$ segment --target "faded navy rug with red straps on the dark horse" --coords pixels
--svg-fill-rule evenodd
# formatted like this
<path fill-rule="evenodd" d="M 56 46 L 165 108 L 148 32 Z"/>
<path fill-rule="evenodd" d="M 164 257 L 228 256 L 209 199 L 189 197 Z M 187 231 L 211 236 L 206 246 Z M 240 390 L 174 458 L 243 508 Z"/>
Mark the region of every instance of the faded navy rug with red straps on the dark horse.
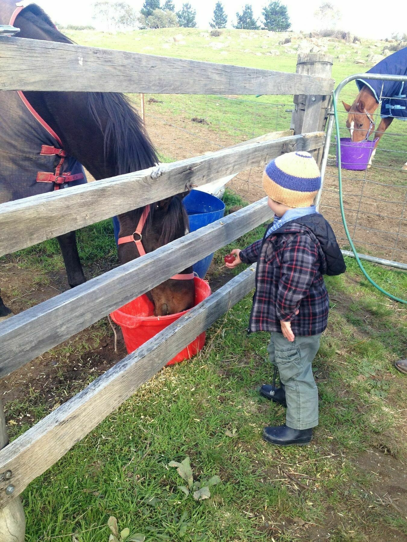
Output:
<path fill-rule="evenodd" d="M 3 0 L 0 24 L 14 24 L 23 10 L 46 17 L 35 4 Z M 18 34 L 17 34 L 18 36 Z M 84 169 L 21 91 L 0 93 L 0 203 L 86 183 Z"/>

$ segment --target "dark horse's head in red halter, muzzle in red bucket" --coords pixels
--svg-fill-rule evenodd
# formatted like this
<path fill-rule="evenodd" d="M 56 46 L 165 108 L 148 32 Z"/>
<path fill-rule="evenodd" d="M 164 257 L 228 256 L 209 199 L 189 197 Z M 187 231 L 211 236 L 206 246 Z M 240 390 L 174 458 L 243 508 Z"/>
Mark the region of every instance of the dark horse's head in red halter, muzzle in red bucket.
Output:
<path fill-rule="evenodd" d="M 187 193 L 187 192 L 186 192 Z M 186 193 L 163 199 L 150 205 L 147 221 L 142 229 L 142 245 L 146 253 L 162 247 L 174 239 L 189 232 L 188 215 L 182 205 Z M 132 236 L 139 224 L 143 209 L 126 212 L 119 215 L 119 237 Z M 135 237 L 138 240 L 137 234 Z M 139 257 L 139 251 L 134 242 L 125 242 L 118 246 L 118 256 L 121 264 Z M 192 273 L 192 267 L 185 269 Z M 163 316 L 185 311 L 193 307 L 195 298 L 193 280 L 168 279 L 152 288 L 147 295 L 154 303 L 154 314 Z"/>

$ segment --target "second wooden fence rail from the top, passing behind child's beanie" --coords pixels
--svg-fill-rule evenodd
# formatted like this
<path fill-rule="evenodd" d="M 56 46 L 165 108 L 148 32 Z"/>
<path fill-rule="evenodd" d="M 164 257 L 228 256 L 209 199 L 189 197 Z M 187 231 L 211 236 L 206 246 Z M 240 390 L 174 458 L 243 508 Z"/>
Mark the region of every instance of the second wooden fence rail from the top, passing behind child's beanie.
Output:
<path fill-rule="evenodd" d="M 323 132 L 314 132 L 249 142 L 147 170 L 96 180 L 69 190 L 3 203 L 0 205 L 0 256 L 143 207 L 191 186 L 200 186 L 262 165 L 279 156 L 287 146 L 290 150 L 308 151 L 319 149 L 324 141 Z"/>

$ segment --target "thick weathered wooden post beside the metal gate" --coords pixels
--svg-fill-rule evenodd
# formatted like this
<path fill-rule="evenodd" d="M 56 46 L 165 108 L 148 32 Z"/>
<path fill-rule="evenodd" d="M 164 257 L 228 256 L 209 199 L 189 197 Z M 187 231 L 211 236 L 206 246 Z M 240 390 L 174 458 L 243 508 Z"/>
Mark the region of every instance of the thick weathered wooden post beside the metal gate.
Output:
<path fill-rule="evenodd" d="M 296 73 L 331 79 L 332 64 L 332 55 L 300 53 L 297 57 Z M 295 110 L 291 116 L 291 128 L 294 128 L 294 135 L 324 130 L 330 104 L 329 94 L 326 96 L 297 94 L 294 96 L 294 104 Z M 314 151 L 314 157 L 319 165 L 322 160 L 322 151 L 323 149 Z"/>

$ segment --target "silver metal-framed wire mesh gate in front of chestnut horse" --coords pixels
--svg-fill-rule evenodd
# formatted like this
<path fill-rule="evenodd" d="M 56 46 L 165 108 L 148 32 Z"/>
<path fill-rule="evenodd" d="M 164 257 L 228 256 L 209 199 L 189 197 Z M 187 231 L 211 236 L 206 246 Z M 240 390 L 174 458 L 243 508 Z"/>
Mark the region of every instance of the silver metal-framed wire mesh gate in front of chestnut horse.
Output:
<path fill-rule="evenodd" d="M 355 74 L 344 79 L 336 88 L 335 97 L 338 104 L 342 91 L 344 91 L 342 95 L 346 95 L 347 92 L 353 93 L 354 99 L 356 95 L 354 89 L 347 88 L 346 85 L 356 79 L 400 81 L 406 82 L 407 87 L 406 76 Z M 378 118 L 378 122 L 375 122 L 376 127 L 380 122 L 381 102 L 388 98 L 383 95 L 383 87 L 382 84 L 377 111 L 372 114 L 375 121 Z M 398 100 L 400 99 L 404 100 L 407 106 L 405 95 L 398 97 Z M 349 136 L 345 124 L 346 117 L 347 112 L 340 107 L 338 118 L 341 137 Z M 345 246 L 347 238 L 339 211 L 336 140 L 332 137 L 334 122 L 332 105 L 321 163 L 322 186 L 316 198 L 316 205 L 332 224 L 342 246 Z M 407 122 L 396 118 L 389 131 L 383 133 L 371 167 L 364 171 L 342 169 L 346 220 L 360 259 L 405 270 L 407 270 L 407 170 L 403 170 L 402 167 L 406 162 Z M 344 253 L 353 256 L 352 251 L 344 250 Z"/>

